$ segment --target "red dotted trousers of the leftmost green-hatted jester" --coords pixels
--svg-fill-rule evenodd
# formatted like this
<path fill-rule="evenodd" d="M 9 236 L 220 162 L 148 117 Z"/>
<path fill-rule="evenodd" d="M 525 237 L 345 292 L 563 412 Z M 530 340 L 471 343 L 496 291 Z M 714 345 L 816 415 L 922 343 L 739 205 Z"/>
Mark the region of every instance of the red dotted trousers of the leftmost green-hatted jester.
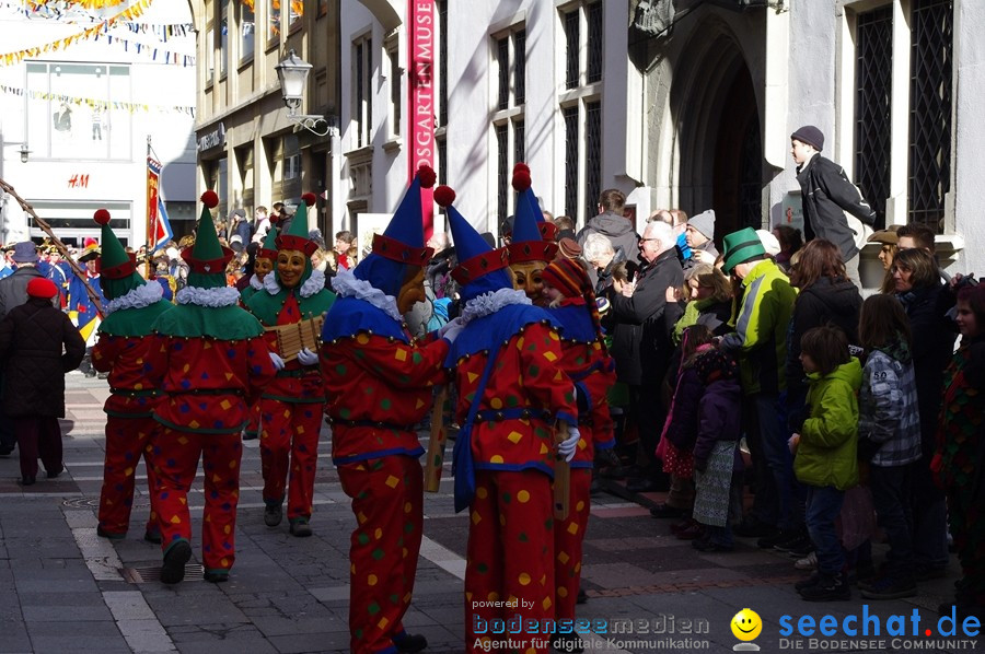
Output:
<path fill-rule="evenodd" d="M 100 527 L 112 536 L 123 536 L 130 526 L 134 489 L 140 457 L 147 468 L 147 486 L 151 493 L 151 511 L 147 530 L 157 533 L 154 511 L 154 470 L 151 442 L 160 423 L 151 416 L 123 418 L 106 416 L 106 460 L 103 464 L 103 490 L 100 492 Z"/>

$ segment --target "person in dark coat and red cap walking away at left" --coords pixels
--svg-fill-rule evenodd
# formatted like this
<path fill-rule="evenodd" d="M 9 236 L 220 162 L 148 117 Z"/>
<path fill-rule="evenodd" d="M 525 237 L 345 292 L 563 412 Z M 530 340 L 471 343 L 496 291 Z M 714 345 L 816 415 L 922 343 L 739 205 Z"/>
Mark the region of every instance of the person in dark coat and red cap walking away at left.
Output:
<path fill-rule="evenodd" d="M 65 417 L 65 373 L 79 367 L 85 341 L 68 316 L 51 305 L 57 294 L 51 280 L 33 279 L 27 302 L 0 323 L 0 365 L 7 379 L 18 381 L 4 384 L 0 401 L 20 444 L 22 486 L 34 483 L 38 455 L 48 478 L 65 469 L 58 425 Z"/>

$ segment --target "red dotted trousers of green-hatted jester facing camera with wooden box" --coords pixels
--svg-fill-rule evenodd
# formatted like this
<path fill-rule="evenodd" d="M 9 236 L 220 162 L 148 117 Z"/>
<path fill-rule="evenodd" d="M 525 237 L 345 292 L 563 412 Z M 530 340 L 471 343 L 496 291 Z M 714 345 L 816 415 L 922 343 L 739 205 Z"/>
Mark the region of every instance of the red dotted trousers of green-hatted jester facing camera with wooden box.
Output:
<path fill-rule="evenodd" d="M 260 468 L 264 502 L 283 502 L 288 494 L 289 521 L 311 518 L 318 430 L 324 404 L 293 404 L 260 399 Z M 288 488 L 288 471 L 290 487 Z"/>

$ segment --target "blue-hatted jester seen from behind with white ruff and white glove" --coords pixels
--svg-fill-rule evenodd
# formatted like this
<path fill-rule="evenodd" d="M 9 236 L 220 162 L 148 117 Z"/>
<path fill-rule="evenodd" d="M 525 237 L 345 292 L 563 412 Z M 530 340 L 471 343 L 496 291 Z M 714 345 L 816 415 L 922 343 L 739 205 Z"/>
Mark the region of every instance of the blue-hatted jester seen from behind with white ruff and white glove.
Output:
<path fill-rule="evenodd" d="M 465 568 L 465 645 L 494 643 L 476 626 L 491 620 L 554 617 L 555 449 L 570 460 L 580 440 L 575 388 L 559 366 L 559 327 L 510 283 L 507 253 L 493 249 L 439 187 L 462 284 L 465 328 L 447 365 L 455 371 L 455 511 L 470 509 Z M 496 374 L 493 375 L 493 370 Z M 563 443 L 555 447 L 558 425 Z M 501 599 L 509 606 L 498 606 Z M 546 652 L 531 634 L 511 635 L 521 652 Z M 543 639 L 546 644 L 547 639 Z"/>

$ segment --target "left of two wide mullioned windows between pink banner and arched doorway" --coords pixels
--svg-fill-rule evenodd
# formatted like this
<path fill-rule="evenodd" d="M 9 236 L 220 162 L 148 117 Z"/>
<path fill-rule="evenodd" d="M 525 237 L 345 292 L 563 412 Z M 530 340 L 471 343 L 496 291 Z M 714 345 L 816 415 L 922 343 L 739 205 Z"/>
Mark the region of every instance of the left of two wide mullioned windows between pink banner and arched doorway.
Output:
<path fill-rule="evenodd" d="M 522 161 L 526 143 L 526 28 L 523 23 L 493 34 L 496 89 L 493 103 L 493 136 L 496 148 L 496 207 L 499 224 L 512 213 L 510 186 L 514 163 Z"/>

